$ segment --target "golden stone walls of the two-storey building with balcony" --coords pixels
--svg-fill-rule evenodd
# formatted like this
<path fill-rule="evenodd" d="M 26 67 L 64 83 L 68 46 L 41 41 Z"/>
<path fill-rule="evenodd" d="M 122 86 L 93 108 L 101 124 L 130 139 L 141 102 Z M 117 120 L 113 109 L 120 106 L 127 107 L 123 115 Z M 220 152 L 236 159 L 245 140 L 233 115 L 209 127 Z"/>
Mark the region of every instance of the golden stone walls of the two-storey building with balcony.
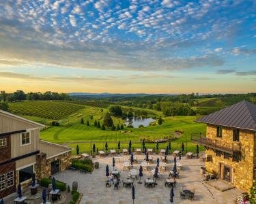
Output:
<path fill-rule="evenodd" d="M 216 126 L 208 125 L 207 137 L 216 139 L 223 146 L 230 146 L 233 142 L 233 129 L 223 127 L 222 137 L 216 137 Z M 235 162 L 232 158 L 224 158 L 224 154 L 216 156 L 214 150 L 206 150 L 206 155 L 212 155 L 212 161 L 205 162 L 206 171 L 219 174 L 219 164 L 223 163 L 233 169 L 231 177 L 233 184 L 242 190 L 249 190 L 253 184 L 253 168 L 255 153 L 255 133 L 240 130 L 241 157 L 239 162 Z M 233 176 L 232 176 L 233 173 Z"/>

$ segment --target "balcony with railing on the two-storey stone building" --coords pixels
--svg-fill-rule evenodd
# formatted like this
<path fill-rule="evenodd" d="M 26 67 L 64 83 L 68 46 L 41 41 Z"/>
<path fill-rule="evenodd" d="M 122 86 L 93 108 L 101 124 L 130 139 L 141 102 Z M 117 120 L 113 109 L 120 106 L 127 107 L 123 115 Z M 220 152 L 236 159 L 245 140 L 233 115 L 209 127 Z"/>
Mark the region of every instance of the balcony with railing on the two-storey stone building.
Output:
<path fill-rule="evenodd" d="M 213 150 L 227 152 L 229 154 L 240 154 L 241 152 L 240 141 L 227 143 L 221 139 L 210 139 L 208 137 L 204 137 L 203 135 L 192 135 L 191 141 L 201 146 L 205 146 L 205 148 L 212 148 Z"/>

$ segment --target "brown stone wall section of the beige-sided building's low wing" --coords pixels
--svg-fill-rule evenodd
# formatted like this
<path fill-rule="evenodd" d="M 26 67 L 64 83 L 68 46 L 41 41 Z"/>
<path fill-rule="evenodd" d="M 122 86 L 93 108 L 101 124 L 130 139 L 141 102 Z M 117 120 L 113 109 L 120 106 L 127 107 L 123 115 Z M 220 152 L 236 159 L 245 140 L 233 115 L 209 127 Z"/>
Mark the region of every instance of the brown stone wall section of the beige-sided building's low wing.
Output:
<path fill-rule="evenodd" d="M 46 154 L 40 153 L 36 158 L 35 172 L 38 180 L 51 175 L 51 163 L 55 160 L 60 162 L 60 171 L 65 171 L 71 165 L 71 152 L 46 159 Z"/>

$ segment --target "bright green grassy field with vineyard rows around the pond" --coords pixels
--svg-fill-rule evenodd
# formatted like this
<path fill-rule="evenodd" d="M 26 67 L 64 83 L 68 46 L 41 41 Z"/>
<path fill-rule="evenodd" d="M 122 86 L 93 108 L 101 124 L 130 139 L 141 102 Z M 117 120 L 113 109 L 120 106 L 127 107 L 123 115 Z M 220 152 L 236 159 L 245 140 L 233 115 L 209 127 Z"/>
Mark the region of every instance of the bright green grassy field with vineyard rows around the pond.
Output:
<path fill-rule="evenodd" d="M 43 109 L 40 109 L 44 106 Z M 29 109 L 29 107 L 32 107 Z M 47 108 L 46 108 L 47 107 Z M 10 104 L 10 109 L 14 113 L 18 113 L 21 116 L 36 122 L 49 125 L 52 121 L 51 118 L 55 114 L 54 118 L 61 118 L 57 120 L 59 126 L 49 126 L 40 133 L 40 138 L 52 141 L 55 143 L 62 143 L 73 148 L 79 144 L 81 152 L 90 152 L 93 143 L 96 143 L 96 148 L 99 150 L 104 149 L 106 141 L 109 142 L 109 148 L 117 149 L 117 142 L 121 141 L 121 148 L 128 148 L 128 141 L 132 141 L 132 148 L 141 148 L 141 138 L 150 137 L 153 139 L 160 139 L 163 137 L 173 137 L 174 131 L 184 131 L 184 133 L 171 140 L 172 150 L 180 149 L 181 143 L 184 142 L 190 152 L 195 152 L 195 144 L 190 142 L 191 134 L 193 133 L 205 133 L 205 124 L 195 123 L 193 120 L 197 116 L 175 116 L 164 117 L 162 112 L 157 112 L 151 109 L 141 109 L 145 112 L 152 112 L 152 115 L 158 117 L 162 116 L 164 122 L 162 125 L 147 126 L 139 129 L 127 128 L 125 126 L 124 131 L 102 131 L 94 126 L 94 121 L 99 121 L 102 124 L 102 120 L 108 108 L 92 107 L 88 105 L 78 105 L 69 102 L 57 102 L 57 101 L 29 101 Z M 27 112 L 23 112 L 26 109 Z M 63 110 L 68 110 L 63 112 Z M 139 109 L 139 108 L 136 108 Z M 40 114 L 35 114 L 35 110 Z M 71 114 L 68 114 L 71 112 Z M 50 114 L 50 116 L 47 116 Z M 35 116 L 36 115 L 36 116 Z M 40 117 L 41 116 L 41 117 Z M 92 119 L 91 119 L 92 116 Z M 81 124 L 81 118 L 84 119 L 85 124 Z M 124 121 L 121 118 L 113 118 L 115 126 L 117 124 L 123 124 Z M 89 121 L 89 126 L 86 122 Z M 92 141 L 92 142 L 91 142 Z M 147 148 L 155 148 L 155 143 L 146 143 Z M 160 148 L 166 148 L 167 143 L 160 143 Z M 202 148 L 203 149 L 203 148 Z M 73 151 L 75 154 L 75 150 Z"/>

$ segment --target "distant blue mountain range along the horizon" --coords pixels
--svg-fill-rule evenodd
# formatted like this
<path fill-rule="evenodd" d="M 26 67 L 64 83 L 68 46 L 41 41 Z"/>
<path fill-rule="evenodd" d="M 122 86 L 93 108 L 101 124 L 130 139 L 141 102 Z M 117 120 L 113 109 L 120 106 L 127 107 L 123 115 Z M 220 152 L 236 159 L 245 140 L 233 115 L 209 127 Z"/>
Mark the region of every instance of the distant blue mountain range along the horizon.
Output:
<path fill-rule="evenodd" d="M 168 94 L 145 94 L 145 93 L 128 93 L 128 94 L 122 94 L 122 93 L 109 93 L 109 92 L 102 92 L 102 93 L 91 93 L 91 92 L 70 92 L 68 93 L 70 97 L 145 97 L 145 96 L 173 96 Z"/>

